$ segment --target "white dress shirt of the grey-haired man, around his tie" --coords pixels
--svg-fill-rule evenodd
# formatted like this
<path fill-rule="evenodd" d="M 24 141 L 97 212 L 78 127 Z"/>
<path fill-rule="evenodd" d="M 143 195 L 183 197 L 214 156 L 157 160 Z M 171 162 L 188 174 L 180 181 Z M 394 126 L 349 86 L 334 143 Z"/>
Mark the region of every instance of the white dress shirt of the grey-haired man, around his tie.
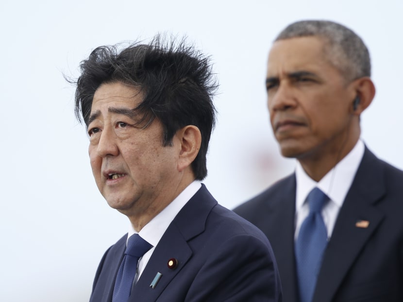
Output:
<path fill-rule="evenodd" d="M 309 192 L 318 187 L 330 199 L 322 208 L 322 217 L 327 229 L 328 240 L 332 236 L 335 227 L 338 212 L 343 205 L 347 192 L 349 191 L 358 166 L 364 156 L 364 143 L 361 140 L 355 144 L 354 148 L 348 153 L 333 169 L 331 169 L 317 183 L 311 179 L 301 164 L 297 161 L 295 176 L 297 180 L 297 191 L 295 200 L 295 233 L 294 239 L 298 238 L 301 224 L 309 214 L 309 205 L 305 202 Z"/>

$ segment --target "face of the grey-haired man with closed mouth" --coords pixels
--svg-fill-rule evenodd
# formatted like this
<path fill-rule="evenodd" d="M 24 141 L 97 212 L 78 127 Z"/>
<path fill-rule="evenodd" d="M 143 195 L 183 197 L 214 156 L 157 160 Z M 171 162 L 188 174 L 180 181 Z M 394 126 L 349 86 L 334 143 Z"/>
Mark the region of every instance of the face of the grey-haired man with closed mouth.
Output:
<path fill-rule="evenodd" d="M 356 92 L 330 64 L 318 37 L 276 41 L 266 87 L 273 133 L 285 157 L 337 153 L 352 138 Z"/>

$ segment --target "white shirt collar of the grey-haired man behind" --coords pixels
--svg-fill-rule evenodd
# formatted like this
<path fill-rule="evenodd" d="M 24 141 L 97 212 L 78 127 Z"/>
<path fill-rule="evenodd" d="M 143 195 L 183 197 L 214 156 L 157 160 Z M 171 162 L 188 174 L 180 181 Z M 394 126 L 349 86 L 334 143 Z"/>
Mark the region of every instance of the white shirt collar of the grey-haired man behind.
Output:
<path fill-rule="evenodd" d="M 347 192 L 353 184 L 353 179 L 364 156 L 365 146 L 359 139 L 350 151 L 337 165 L 331 169 L 318 183 L 311 179 L 297 161 L 295 176 L 297 180 L 296 211 L 302 207 L 309 192 L 319 187 L 331 201 L 341 207 Z"/>

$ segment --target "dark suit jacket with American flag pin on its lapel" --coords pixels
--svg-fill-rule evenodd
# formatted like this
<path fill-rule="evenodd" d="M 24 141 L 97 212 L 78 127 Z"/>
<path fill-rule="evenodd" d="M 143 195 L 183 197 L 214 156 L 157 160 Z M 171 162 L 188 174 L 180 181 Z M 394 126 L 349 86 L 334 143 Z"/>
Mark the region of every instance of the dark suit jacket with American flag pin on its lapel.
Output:
<path fill-rule="evenodd" d="M 235 209 L 268 236 L 285 302 L 298 301 L 295 192 L 292 174 Z M 313 302 L 329 301 L 403 301 L 403 172 L 367 148 L 323 255 Z"/>

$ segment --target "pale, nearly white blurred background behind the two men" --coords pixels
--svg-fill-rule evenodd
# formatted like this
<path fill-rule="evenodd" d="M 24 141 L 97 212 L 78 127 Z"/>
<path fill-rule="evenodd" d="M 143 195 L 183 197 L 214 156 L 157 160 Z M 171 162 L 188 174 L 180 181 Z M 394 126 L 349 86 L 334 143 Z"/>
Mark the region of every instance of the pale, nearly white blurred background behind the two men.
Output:
<path fill-rule="evenodd" d="M 291 22 L 331 19 L 369 47 L 375 100 L 362 138 L 403 168 L 401 0 L 0 2 L 0 301 L 88 301 L 103 252 L 128 220 L 93 180 L 74 87 L 91 50 L 157 32 L 184 35 L 212 56 L 218 124 L 205 184 L 233 208 L 292 171 L 279 155 L 266 110 L 267 53 Z"/>

